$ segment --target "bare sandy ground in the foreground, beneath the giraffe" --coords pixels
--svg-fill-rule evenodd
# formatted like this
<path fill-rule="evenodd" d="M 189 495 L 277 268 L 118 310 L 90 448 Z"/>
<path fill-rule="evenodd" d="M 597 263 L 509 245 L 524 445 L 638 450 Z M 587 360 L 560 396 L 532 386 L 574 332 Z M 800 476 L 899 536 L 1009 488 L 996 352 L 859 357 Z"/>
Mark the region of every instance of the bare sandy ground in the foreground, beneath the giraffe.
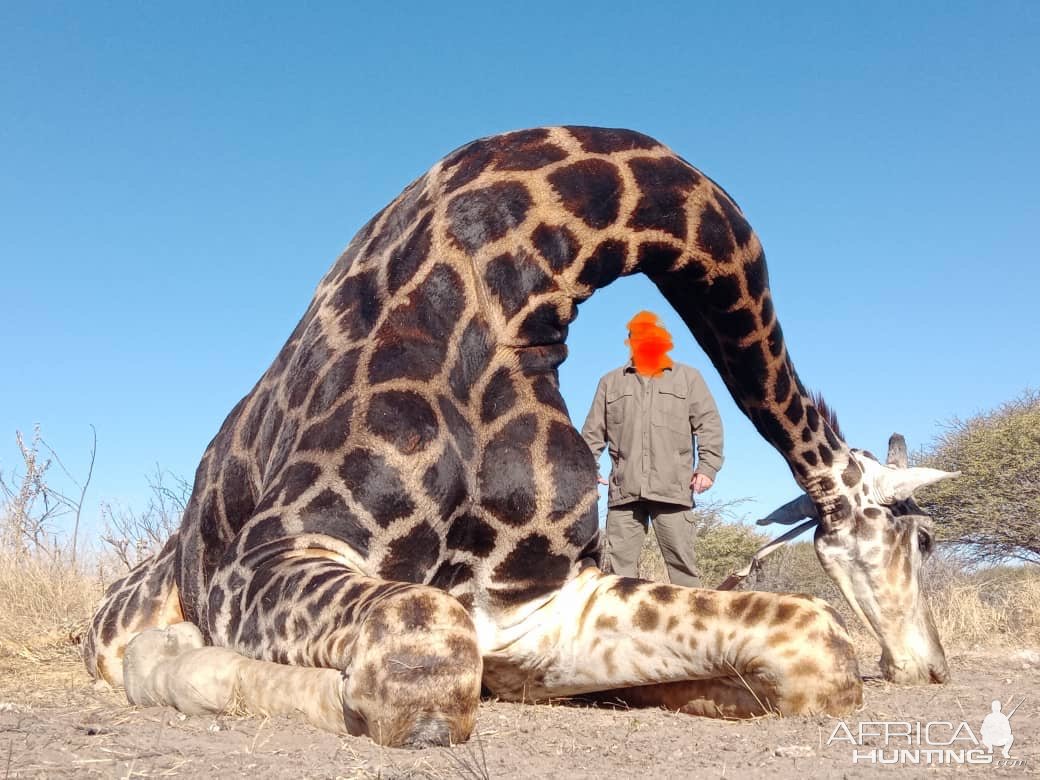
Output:
<path fill-rule="evenodd" d="M 96 690 L 69 653 L 0 658 L 0 776 L 347 778 L 859 778 L 888 774 L 1040 775 L 1040 662 L 1030 651 L 951 653 L 946 685 L 867 680 L 861 711 L 844 719 L 980 724 L 990 702 L 1018 702 L 1013 766 L 893 768 L 853 763 L 848 742 L 827 745 L 832 718 L 719 722 L 659 709 L 488 701 L 476 732 L 452 749 L 405 751 L 337 737 L 284 719 L 185 718 L 126 706 Z M 876 673 L 864 662 L 867 673 Z M 948 734 L 950 731 L 943 732 Z M 878 738 L 870 745 L 881 746 Z M 999 753 L 999 749 L 997 749 Z"/>

